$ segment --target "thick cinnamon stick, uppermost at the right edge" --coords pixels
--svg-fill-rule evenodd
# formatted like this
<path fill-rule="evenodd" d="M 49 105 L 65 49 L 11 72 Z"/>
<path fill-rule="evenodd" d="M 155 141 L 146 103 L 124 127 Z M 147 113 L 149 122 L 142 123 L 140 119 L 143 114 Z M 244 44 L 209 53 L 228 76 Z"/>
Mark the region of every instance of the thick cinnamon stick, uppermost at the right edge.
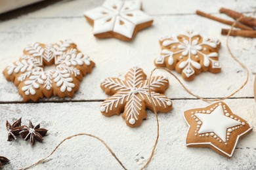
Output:
<path fill-rule="evenodd" d="M 240 12 L 236 12 L 234 10 L 224 9 L 224 8 L 221 8 L 219 12 L 224 13 L 227 16 L 230 16 L 231 18 L 234 18 L 234 20 L 237 20 L 238 18 L 243 17 L 239 22 L 251 27 L 256 27 L 256 18 L 245 16 Z"/>

